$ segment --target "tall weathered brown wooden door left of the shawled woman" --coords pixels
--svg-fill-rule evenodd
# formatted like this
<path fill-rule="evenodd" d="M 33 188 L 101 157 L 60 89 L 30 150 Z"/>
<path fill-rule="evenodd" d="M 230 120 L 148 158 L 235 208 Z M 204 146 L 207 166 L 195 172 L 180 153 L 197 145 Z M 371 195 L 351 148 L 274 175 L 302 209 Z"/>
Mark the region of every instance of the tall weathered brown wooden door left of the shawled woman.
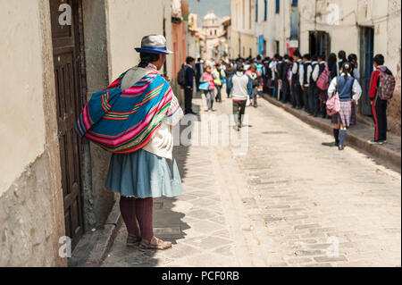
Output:
<path fill-rule="evenodd" d="M 67 6 L 66 6 L 67 4 Z M 84 232 L 80 140 L 74 133 L 81 107 L 80 2 L 50 0 L 66 235 L 74 248 Z M 60 16 L 62 15 L 62 18 Z M 70 18 L 71 17 L 71 21 Z"/>

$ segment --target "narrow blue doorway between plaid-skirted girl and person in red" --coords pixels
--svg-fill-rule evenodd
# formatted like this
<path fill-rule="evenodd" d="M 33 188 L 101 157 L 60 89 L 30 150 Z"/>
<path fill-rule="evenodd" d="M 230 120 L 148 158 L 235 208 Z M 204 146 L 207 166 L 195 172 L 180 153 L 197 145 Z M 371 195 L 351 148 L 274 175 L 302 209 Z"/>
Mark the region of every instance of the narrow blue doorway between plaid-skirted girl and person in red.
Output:
<path fill-rule="evenodd" d="M 361 113 L 372 115 L 372 106 L 368 95 L 370 77 L 373 72 L 374 57 L 374 29 L 372 27 L 360 27 L 360 85 L 362 86 Z"/>

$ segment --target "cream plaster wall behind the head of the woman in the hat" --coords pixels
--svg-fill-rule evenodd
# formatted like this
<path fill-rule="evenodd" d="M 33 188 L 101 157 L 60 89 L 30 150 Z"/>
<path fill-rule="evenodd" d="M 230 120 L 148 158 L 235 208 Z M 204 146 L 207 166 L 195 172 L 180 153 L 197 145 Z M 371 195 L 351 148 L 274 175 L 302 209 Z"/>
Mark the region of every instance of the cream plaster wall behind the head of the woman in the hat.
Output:
<path fill-rule="evenodd" d="M 149 34 L 163 34 L 166 19 L 168 49 L 172 46 L 172 15 L 169 0 L 106 0 L 109 76 L 115 80 L 139 63 L 134 47 Z M 167 56 L 168 74 L 172 78 L 172 55 Z"/>

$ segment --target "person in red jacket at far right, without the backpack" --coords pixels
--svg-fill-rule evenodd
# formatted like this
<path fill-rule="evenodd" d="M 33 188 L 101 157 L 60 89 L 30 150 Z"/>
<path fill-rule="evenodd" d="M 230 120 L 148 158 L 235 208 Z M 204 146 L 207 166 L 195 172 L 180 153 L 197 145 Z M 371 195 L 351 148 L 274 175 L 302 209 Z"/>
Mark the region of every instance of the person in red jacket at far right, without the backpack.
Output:
<path fill-rule="evenodd" d="M 369 143 L 373 145 L 382 145 L 387 142 L 388 100 L 382 100 L 379 96 L 377 96 L 381 72 L 392 74 L 392 72 L 389 71 L 386 66 L 384 66 L 384 62 L 384 56 L 382 54 L 377 54 L 374 56 L 375 71 L 373 71 L 372 73 L 369 89 L 369 97 L 372 104 L 373 121 L 375 125 L 374 139 L 370 140 Z"/>

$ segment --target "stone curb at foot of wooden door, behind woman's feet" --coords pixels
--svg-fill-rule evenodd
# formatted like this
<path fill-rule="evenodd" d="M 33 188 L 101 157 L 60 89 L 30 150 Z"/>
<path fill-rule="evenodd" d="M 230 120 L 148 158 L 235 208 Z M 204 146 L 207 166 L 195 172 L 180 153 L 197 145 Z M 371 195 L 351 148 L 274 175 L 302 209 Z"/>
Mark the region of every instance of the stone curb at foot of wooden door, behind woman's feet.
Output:
<path fill-rule="evenodd" d="M 107 217 L 104 228 L 97 232 L 98 238 L 96 239 L 96 246 L 91 250 L 88 260 L 82 267 L 100 267 L 105 260 L 107 252 L 113 245 L 121 222 L 119 200 L 116 200 L 112 211 Z"/>

